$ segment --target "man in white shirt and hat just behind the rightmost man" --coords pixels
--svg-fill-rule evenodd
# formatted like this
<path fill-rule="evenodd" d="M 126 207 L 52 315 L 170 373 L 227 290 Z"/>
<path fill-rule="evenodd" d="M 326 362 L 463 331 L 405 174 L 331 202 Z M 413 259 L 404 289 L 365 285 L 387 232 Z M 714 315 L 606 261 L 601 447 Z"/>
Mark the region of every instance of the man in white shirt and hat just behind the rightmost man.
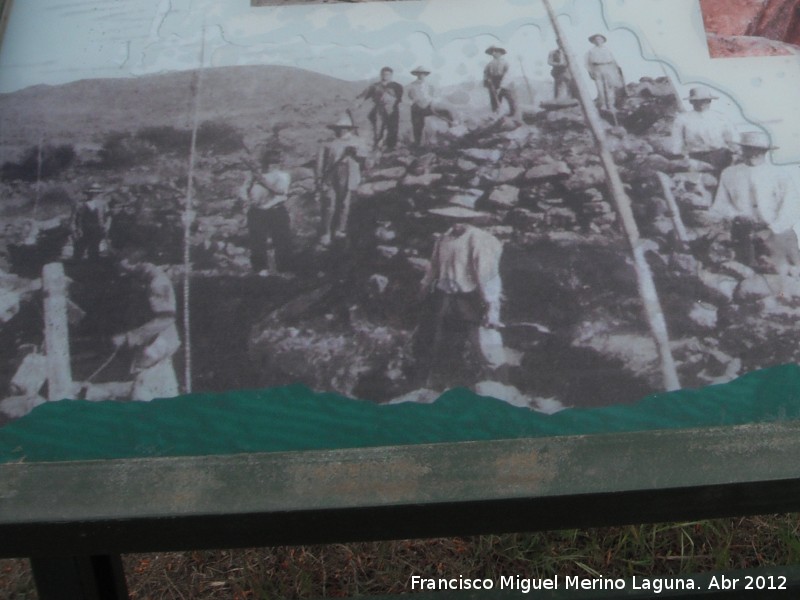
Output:
<path fill-rule="evenodd" d="M 733 162 L 738 140 L 733 124 L 724 115 L 711 110 L 711 103 L 718 99 L 705 87 L 689 90 L 686 100 L 692 110 L 675 117 L 670 142 L 673 154 L 712 165 L 716 177 Z"/>

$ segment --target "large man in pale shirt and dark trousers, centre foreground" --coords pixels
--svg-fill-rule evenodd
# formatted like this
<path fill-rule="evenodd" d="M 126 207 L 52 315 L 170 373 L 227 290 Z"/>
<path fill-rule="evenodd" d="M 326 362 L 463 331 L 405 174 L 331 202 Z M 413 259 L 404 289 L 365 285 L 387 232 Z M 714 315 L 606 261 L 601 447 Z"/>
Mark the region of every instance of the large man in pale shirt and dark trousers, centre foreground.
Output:
<path fill-rule="evenodd" d="M 421 282 L 424 315 L 415 338 L 415 355 L 427 387 L 474 383 L 482 376 L 504 378 L 500 321 L 502 243 L 472 225 L 457 223 L 437 240 Z M 465 350 L 479 362 L 465 361 Z M 453 381 L 466 369 L 472 382 Z M 477 377 L 477 379 L 475 379 Z"/>

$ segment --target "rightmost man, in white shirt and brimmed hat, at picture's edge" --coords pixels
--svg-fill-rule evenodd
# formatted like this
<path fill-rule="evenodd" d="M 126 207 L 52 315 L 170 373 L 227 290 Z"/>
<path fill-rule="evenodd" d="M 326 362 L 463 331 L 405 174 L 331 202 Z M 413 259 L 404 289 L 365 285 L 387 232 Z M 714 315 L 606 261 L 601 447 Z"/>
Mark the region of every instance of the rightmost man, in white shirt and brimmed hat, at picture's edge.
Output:
<path fill-rule="evenodd" d="M 722 172 L 709 216 L 731 221 L 736 260 L 754 268 L 767 261 L 785 273 L 800 266 L 800 193 L 786 169 L 769 162 L 766 133 L 743 133 L 739 145 L 743 162 Z"/>

